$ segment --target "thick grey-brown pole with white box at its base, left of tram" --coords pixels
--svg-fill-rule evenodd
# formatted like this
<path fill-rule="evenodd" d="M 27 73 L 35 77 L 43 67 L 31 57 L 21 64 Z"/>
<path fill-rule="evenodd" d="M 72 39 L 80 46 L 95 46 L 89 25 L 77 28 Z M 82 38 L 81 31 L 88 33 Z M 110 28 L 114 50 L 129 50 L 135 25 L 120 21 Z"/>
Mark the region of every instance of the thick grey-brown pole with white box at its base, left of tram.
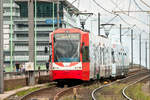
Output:
<path fill-rule="evenodd" d="M 29 62 L 34 63 L 34 6 L 33 0 L 28 0 L 28 26 L 29 26 Z M 34 64 L 33 64 L 34 65 Z M 34 66 L 35 70 L 35 66 Z M 35 84 L 34 71 L 29 71 L 29 85 Z"/>

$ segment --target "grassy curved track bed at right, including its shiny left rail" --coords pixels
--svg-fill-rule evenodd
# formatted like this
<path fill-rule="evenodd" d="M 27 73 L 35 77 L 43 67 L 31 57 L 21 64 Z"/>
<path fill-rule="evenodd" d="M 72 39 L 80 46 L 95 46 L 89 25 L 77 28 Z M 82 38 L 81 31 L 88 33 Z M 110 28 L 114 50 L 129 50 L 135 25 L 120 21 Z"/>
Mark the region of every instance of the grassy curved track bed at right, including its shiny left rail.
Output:
<path fill-rule="evenodd" d="M 128 76 L 124 79 L 114 81 L 107 85 L 102 85 L 94 89 L 91 93 L 93 100 L 127 100 L 122 95 L 121 90 L 126 86 L 135 83 L 139 79 L 143 79 L 148 75 L 147 71 L 139 72 L 135 75 Z M 148 77 L 148 76 L 147 76 Z M 111 99 L 110 99 L 111 98 Z M 128 99 L 130 100 L 130 99 Z"/>

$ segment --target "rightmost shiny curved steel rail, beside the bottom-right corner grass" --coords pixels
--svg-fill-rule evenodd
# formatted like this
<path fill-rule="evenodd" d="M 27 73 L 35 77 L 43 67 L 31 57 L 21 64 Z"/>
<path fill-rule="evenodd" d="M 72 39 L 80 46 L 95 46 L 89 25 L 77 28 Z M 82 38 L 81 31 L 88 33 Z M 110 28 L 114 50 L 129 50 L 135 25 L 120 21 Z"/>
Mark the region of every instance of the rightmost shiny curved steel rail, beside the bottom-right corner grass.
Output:
<path fill-rule="evenodd" d="M 134 84 L 136 84 L 136 83 L 138 83 L 138 82 L 140 82 L 140 81 L 142 81 L 142 80 L 144 80 L 144 79 L 146 79 L 146 78 L 148 78 L 148 77 L 150 77 L 150 75 L 147 75 L 147 76 L 143 77 L 142 79 L 137 80 L 136 82 L 131 83 L 131 84 L 129 84 L 128 86 L 126 86 L 125 88 L 123 88 L 123 90 L 122 90 L 122 95 L 123 95 L 126 99 L 128 99 L 128 100 L 133 100 L 131 97 L 127 96 L 127 94 L 125 93 L 125 90 L 126 90 L 129 86 L 134 85 Z"/>

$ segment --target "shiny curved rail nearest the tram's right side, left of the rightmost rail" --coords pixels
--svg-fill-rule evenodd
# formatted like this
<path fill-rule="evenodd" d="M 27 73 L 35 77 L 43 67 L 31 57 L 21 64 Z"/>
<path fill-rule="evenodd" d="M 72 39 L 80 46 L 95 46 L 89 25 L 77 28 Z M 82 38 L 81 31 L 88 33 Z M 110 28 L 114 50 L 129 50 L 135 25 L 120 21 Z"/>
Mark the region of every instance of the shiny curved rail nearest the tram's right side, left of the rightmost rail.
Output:
<path fill-rule="evenodd" d="M 119 80 L 119 81 L 114 81 L 114 82 L 112 82 L 112 83 L 110 83 L 110 84 L 103 85 L 103 86 L 100 86 L 100 87 L 94 89 L 93 92 L 92 92 L 92 100 L 96 100 L 96 97 L 94 96 L 94 94 L 96 93 L 96 91 L 98 91 L 98 90 L 100 90 L 100 89 L 102 89 L 102 88 L 104 88 L 104 87 L 113 85 L 113 84 L 115 84 L 115 83 L 117 83 L 117 82 L 121 82 L 121 81 L 126 80 L 126 79 L 128 79 L 128 78 L 131 78 L 131 77 L 133 77 L 133 76 L 139 75 L 139 74 L 141 74 L 141 73 L 143 73 L 143 72 L 139 72 L 139 73 L 137 73 L 137 74 L 128 76 L 128 77 L 126 77 L 126 78 L 123 78 L 123 79 L 121 79 L 121 80 Z M 144 73 L 145 73 L 145 72 L 144 72 Z"/>

